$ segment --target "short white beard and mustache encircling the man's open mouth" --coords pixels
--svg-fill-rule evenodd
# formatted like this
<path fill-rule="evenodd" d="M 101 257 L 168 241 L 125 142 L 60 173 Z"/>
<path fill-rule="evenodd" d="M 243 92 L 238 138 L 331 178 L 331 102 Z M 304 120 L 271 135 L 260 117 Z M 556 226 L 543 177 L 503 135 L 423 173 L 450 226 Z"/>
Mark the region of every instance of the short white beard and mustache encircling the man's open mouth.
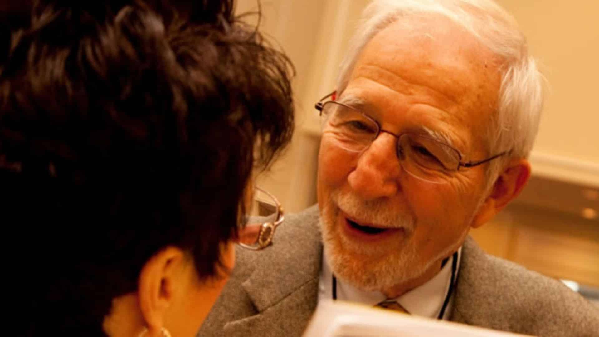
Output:
<path fill-rule="evenodd" d="M 391 252 L 389 247 L 358 246 L 355 242 L 349 242 L 338 233 L 339 208 L 349 211 L 349 215 L 368 219 L 376 224 L 404 228 L 406 239 L 398 242 L 397 249 Z M 410 241 L 415 220 L 411 216 L 394 214 L 388 205 L 379 201 L 364 202 L 349 194 L 333 192 L 321 210 L 319 225 L 326 262 L 334 275 L 341 281 L 366 291 L 385 291 L 419 278 L 432 264 L 456 251 L 464 242 L 469 229 L 466 226 L 455 245 L 448 246 L 422 264 L 418 247 Z"/>

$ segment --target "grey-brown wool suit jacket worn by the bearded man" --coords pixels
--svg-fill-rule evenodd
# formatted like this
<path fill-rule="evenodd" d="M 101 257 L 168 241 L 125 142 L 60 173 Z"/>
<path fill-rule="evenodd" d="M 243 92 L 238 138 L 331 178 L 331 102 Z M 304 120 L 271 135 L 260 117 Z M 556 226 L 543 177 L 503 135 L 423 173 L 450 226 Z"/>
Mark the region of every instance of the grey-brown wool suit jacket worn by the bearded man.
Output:
<path fill-rule="evenodd" d="M 235 268 L 198 336 L 301 336 L 316 308 L 319 211 L 289 215 L 273 246 L 237 249 Z M 599 336 L 599 310 L 561 282 L 465 241 L 450 320 L 539 336 Z"/>

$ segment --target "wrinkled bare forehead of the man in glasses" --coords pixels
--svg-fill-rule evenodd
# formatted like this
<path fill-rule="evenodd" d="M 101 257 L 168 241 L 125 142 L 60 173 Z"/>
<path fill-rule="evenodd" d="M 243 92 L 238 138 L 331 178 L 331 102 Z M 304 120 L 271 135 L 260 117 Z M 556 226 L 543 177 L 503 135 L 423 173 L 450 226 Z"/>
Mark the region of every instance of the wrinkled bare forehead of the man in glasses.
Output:
<path fill-rule="evenodd" d="M 441 109 L 453 105 L 476 115 L 468 119 L 488 122 L 497 107 L 501 60 L 474 35 L 445 17 L 409 20 L 413 23 L 391 23 L 371 38 L 347 88 L 370 76 L 391 91 L 415 99 L 426 96 L 446 104 Z M 351 99 L 364 103 L 360 102 L 364 97 Z"/>

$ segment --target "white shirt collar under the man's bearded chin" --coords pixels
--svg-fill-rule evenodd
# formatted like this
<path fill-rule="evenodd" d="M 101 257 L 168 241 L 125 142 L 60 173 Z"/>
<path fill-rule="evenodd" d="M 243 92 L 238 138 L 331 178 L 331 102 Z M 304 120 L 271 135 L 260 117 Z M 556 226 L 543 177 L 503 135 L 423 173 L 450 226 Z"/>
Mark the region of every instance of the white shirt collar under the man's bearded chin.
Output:
<path fill-rule="evenodd" d="M 458 249 L 458 261 L 455 272 L 455 278 L 458 277 L 459 261 L 461 260 L 462 248 Z M 331 267 L 326 263 L 326 249 L 323 249 L 322 269 L 319 279 L 319 300 L 332 299 L 332 272 Z M 433 278 L 418 287 L 408 291 L 407 293 L 397 297 L 397 302 L 400 303 L 410 314 L 422 317 L 437 318 L 443 302 L 449 291 L 452 258 L 447 260 L 447 263 L 441 268 Z M 455 281 L 455 280 L 454 280 Z M 453 296 L 452 296 L 453 297 Z M 374 306 L 377 303 L 386 299 L 385 295 L 380 291 L 364 291 L 353 285 L 344 283 L 337 278 L 337 299 L 350 302 L 362 303 L 368 306 Z M 451 305 L 451 303 L 450 303 Z M 447 308 L 444 314 L 444 319 L 449 317 L 450 308 Z"/>

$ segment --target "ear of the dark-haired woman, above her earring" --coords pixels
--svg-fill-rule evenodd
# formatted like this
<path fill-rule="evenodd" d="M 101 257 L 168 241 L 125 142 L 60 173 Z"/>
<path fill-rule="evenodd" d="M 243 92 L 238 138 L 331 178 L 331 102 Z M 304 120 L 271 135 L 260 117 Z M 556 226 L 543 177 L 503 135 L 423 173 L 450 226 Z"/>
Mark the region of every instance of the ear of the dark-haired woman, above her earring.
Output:
<path fill-rule="evenodd" d="M 176 269 L 183 260 L 184 252 L 169 246 L 153 255 L 141 269 L 138 296 L 150 336 L 164 326 L 167 309 L 174 297 Z"/>

